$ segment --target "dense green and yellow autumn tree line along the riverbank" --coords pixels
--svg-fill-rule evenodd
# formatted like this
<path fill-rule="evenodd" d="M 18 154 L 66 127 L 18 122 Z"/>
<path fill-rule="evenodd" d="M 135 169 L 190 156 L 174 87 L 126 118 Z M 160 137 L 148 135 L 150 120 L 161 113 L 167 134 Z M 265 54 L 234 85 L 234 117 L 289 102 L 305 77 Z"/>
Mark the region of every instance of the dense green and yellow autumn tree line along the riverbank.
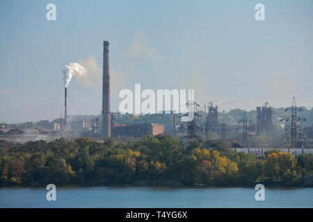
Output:
<path fill-rule="evenodd" d="M 27 142 L 0 148 L 0 185 L 303 185 L 313 155 L 294 157 L 278 149 L 255 157 L 216 142 L 186 147 L 170 136 L 136 142 L 88 138 Z"/>

